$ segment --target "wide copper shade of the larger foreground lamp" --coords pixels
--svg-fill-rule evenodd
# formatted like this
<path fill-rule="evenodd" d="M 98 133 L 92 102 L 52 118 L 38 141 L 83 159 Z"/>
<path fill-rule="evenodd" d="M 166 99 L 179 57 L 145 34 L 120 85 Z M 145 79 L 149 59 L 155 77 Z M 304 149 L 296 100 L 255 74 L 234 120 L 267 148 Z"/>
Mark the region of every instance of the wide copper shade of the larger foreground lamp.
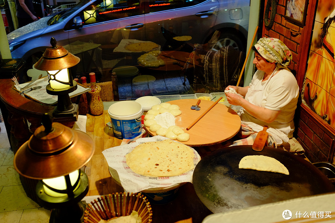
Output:
<path fill-rule="evenodd" d="M 42 123 L 14 156 L 14 168 L 20 175 L 37 180 L 60 177 L 90 160 L 94 153 L 90 136 L 57 122 Z"/>

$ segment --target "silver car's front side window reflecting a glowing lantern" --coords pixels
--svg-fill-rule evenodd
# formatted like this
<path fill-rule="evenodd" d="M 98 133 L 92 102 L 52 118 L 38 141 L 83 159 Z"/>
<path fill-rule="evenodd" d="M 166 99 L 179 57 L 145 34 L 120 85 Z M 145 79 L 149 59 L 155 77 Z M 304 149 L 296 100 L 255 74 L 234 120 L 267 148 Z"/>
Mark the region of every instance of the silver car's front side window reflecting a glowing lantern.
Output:
<path fill-rule="evenodd" d="M 144 14 L 140 0 L 98 0 L 87 6 L 80 17 L 84 25 Z"/>

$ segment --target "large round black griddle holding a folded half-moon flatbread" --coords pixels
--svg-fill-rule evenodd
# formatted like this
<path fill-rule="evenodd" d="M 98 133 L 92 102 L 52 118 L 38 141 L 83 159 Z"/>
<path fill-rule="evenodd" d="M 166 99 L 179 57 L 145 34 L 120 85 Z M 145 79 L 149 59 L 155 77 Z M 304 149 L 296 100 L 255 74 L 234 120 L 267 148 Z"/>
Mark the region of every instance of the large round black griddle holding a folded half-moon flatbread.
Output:
<path fill-rule="evenodd" d="M 247 155 L 273 157 L 286 166 L 289 175 L 239 169 L 240 160 Z M 255 151 L 251 145 L 223 148 L 205 156 L 195 167 L 193 185 L 213 213 L 335 191 L 329 179 L 305 159 L 271 147 Z"/>

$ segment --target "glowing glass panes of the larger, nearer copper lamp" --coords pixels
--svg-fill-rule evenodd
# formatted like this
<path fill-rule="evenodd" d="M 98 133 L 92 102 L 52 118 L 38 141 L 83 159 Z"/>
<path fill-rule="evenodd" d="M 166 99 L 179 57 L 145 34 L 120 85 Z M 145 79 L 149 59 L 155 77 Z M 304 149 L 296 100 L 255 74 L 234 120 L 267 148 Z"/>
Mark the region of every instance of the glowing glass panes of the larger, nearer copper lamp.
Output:
<path fill-rule="evenodd" d="M 76 171 L 69 174 L 72 187 L 74 186 L 74 184 L 76 183 L 78 178 L 80 178 L 79 173 L 80 173 L 80 170 L 76 170 Z M 63 197 L 64 194 L 66 194 L 66 188 L 67 187 L 66 187 L 66 182 L 65 182 L 65 177 L 64 176 L 51 178 L 51 179 L 43 179 L 42 181 L 43 181 L 44 184 L 48 185 L 51 188 L 65 191 L 64 193 L 58 193 L 58 192 L 55 192 L 55 191 L 49 189 L 47 186 L 43 185 L 43 190 L 47 195 L 52 196 L 52 197 Z M 79 185 L 80 185 L 80 180 L 79 180 L 78 185 L 76 186 L 76 188 L 73 191 L 77 190 Z"/>

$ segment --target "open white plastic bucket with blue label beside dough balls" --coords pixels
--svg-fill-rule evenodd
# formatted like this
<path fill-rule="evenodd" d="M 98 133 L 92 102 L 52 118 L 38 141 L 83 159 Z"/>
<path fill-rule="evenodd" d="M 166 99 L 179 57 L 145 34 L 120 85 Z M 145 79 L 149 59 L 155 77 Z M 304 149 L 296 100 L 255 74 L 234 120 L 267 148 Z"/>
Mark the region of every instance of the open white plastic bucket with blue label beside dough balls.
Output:
<path fill-rule="evenodd" d="M 133 139 L 142 131 L 143 108 L 135 101 L 120 101 L 108 109 L 114 136 L 118 139 Z"/>

